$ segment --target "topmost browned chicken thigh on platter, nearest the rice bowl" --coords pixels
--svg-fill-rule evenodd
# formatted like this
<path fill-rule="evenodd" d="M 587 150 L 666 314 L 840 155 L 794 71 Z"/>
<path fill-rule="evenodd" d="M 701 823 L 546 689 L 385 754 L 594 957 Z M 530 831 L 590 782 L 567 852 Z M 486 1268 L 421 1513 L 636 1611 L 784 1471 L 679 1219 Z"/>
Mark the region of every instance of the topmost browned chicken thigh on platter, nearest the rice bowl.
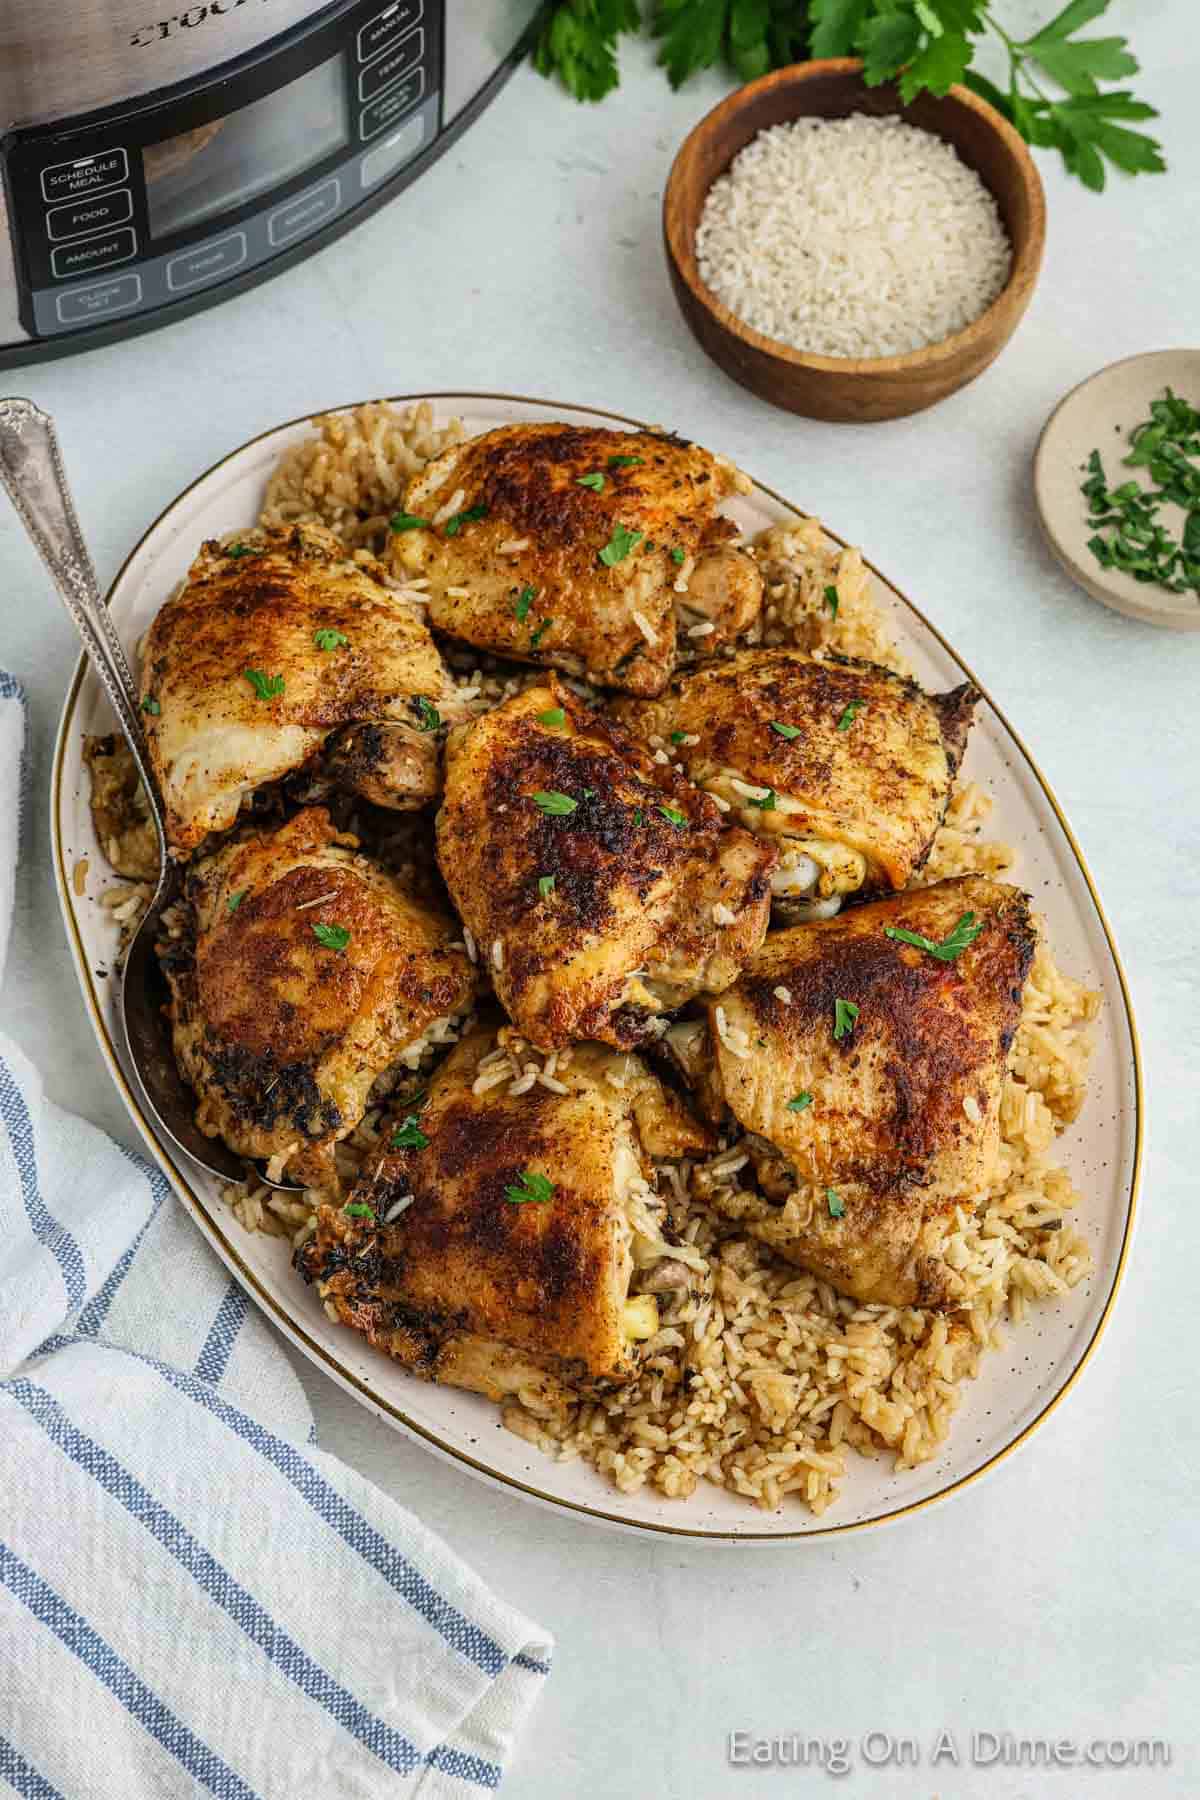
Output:
<path fill-rule="evenodd" d="M 452 637 L 660 693 L 685 571 L 712 542 L 718 500 L 741 486 L 729 463 L 680 437 L 504 425 L 414 475 L 405 508 L 416 524 L 394 531 L 392 565 L 428 578 L 430 623 Z"/>

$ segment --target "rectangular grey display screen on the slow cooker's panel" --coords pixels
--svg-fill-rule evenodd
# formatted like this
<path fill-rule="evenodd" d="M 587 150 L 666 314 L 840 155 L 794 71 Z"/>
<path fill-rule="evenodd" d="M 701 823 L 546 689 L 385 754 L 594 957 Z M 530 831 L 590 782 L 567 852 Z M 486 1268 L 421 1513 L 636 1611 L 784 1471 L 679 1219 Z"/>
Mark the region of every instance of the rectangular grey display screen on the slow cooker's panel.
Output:
<path fill-rule="evenodd" d="M 281 187 L 351 140 L 342 56 L 241 112 L 142 149 L 149 229 L 187 230 Z"/>

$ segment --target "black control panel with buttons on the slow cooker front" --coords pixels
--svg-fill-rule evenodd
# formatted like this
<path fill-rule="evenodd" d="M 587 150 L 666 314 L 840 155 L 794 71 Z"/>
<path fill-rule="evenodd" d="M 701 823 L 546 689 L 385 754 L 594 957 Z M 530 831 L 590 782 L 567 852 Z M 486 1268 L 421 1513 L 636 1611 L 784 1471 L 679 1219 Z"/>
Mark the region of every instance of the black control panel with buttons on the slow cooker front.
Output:
<path fill-rule="evenodd" d="M 40 338 L 169 306 L 302 245 L 441 130 L 443 0 L 363 0 L 232 76 L 4 144 Z"/>

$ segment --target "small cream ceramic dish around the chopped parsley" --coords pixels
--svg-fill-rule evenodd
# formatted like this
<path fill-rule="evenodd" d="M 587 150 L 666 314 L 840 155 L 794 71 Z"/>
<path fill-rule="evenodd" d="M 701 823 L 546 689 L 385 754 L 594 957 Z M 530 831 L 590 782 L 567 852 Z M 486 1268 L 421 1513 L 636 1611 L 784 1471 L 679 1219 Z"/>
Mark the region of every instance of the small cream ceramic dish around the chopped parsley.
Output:
<path fill-rule="evenodd" d="M 1033 461 L 1033 488 L 1047 544 L 1079 587 L 1126 619 L 1166 625 L 1177 632 L 1200 630 L 1200 596 L 1171 594 L 1150 581 L 1135 581 L 1121 569 L 1105 569 L 1088 549 L 1096 527 L 1079 486 L 1087 459 L 1099 450 L 1110 488 L 1126 477 L 1146 486 L 1144 470 L 1124 470 L 1130 432 L 1150 418 L 1151 400 L 1166 389 L 1200 405 L 1200 349 L 1157 349 L 1114 362 L 1072 389 L 1051 412 Z M 1160 522 L 1178 535 L 1184 513 L 1164 506 Z"/>

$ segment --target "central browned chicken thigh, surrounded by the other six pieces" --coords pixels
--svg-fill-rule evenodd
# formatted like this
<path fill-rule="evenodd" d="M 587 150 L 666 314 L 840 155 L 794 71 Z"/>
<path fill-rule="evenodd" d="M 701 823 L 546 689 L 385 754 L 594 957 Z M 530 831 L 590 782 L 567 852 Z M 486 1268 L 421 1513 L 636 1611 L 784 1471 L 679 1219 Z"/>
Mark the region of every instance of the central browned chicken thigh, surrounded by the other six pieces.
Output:
<path fill-rule="evenodd" d="M 763 941 L 775 851 L 554 677 L 452 733 L 437 862 L 543 1049 L 637 1044 Z"/>

